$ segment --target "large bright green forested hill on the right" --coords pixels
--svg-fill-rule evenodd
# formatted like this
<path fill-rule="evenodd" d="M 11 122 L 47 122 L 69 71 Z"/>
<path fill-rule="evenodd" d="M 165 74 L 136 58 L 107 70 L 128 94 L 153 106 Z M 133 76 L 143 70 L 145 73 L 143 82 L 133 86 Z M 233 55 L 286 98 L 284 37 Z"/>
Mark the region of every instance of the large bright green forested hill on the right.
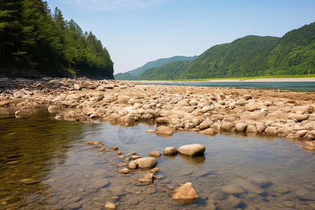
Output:
<path fill-rule="evenodd" d="M 167 64 L 169 65 L 169 64 Z M 168 68 L 168 70 L 166 70 Z M 183 69 L 184 68 L 184 69 Z M 233 78 L 306 74 L 315 71 L 315 22 L 289 31 L 281 38 L 245 36 L 215 45 L 186 64 L 160 66 L 139 76 L 142 80 Z M 174 73 L 178 72 L 178 74 Z"/>

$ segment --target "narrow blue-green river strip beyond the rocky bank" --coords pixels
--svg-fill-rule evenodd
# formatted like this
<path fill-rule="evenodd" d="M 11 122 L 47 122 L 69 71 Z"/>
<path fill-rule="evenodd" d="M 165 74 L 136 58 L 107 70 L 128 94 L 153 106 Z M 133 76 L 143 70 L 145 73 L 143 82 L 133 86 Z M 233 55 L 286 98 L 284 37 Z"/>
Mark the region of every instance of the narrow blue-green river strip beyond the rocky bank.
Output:
<path fill-rule="evenodd" d="M 255 89 L 275 89 L 315 92 L 315 82 L 157 82 L 156 85 L 188 85 L 209 87 L 239 87 Z"/>

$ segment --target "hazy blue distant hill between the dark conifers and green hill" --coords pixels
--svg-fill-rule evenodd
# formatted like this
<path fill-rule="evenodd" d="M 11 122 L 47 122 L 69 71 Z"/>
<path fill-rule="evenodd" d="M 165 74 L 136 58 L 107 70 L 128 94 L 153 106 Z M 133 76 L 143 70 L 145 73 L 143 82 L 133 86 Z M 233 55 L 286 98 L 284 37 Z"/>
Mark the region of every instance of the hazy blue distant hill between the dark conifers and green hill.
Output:
<path fill-rule="evenodd" d="M 174 56 L 174 57 L 168 57 L 168 58 L 160 58 L 155 61 L 147 62 L 144 64 L 144 66 L 141 66 L 137 69 L 127 71 L 126 73 L 117 73 L 115 75 L 115 78 L 117 80 L 137 80 L 137 78 L 141 75 L 141 73 L 144 73 L 147 69 L 151 69 L 153 67 L 162 66 L 164 64 L 167 64 L 168 62 L 172 61 L 179 61 L 179 60 L 188 60 L 191 61 L 193 59 L 196 59 L 196 56 L 193 57 L 186 57 L 186 56 Z"/>

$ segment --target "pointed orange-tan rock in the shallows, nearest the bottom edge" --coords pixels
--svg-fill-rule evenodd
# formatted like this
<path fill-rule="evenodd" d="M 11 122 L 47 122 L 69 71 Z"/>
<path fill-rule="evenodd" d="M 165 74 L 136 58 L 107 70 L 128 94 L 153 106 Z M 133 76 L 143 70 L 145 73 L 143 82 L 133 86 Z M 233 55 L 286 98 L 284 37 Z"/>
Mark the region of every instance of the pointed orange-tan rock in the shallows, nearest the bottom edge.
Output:
<path fill-rule="evenodd" d="M 179 202 L 193 202 L 199 198 L 197 192 L 193 188 L 193 184 L 190 182 L 179 186 L 173 190 L 170 195 L 174 200 Z"/>

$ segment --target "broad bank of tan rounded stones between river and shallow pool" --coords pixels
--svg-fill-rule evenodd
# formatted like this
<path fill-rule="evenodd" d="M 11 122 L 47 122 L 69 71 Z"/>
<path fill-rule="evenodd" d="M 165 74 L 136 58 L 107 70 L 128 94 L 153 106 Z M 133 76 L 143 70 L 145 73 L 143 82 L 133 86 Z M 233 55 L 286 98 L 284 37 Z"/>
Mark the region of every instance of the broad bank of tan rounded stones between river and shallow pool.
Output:
<path fill-rule="evenodd" d="M 0 79 L 0 106 L 20 118 L 40 106 L 59 120 L 157 123 L 158 135 L 189 130 L 207 135 L 266 134 L 315 148 L 315 92 L 232 87 L 139 85 L 87 78 Z"/>

